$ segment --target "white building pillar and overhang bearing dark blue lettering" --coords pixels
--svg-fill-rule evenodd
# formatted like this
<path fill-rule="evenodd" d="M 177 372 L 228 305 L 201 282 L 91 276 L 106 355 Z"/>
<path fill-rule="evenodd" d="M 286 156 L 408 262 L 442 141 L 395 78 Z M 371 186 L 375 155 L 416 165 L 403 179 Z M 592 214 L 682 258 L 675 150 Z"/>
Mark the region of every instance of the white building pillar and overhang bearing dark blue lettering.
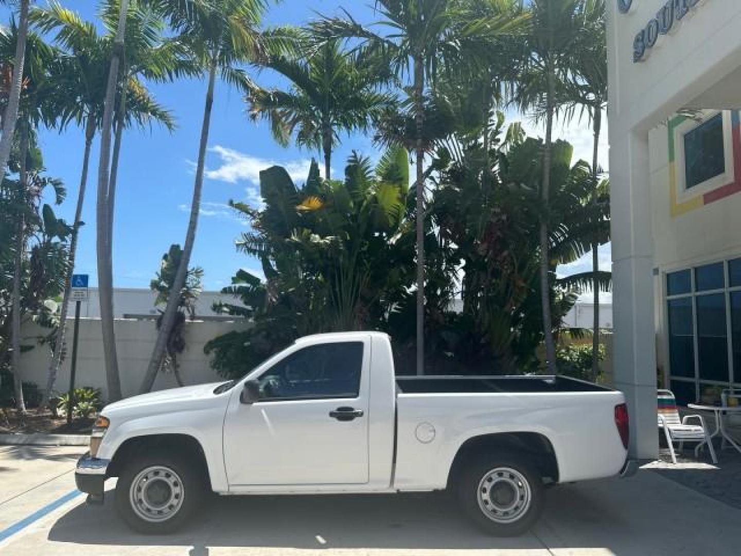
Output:
<path fill-rule="evenodd" d="M 627 7 L 625 13 L 619 4 Z M 608 0 L 608 84 L 614 283 L 615 384 L 631 413 L 631 457 L 658 452 L 653 272 L 657 248 L 651 207 L 648 132 L 685 107 L 712 98 L 739 107 L 737 91 L 708 89 L 741 64 L 741 1 L 679 0 L 681 21 L 634 62 L 637 34 L 667 6 L 665 0 Z M 659 255 L 660 256 L 660 255 Z"/>

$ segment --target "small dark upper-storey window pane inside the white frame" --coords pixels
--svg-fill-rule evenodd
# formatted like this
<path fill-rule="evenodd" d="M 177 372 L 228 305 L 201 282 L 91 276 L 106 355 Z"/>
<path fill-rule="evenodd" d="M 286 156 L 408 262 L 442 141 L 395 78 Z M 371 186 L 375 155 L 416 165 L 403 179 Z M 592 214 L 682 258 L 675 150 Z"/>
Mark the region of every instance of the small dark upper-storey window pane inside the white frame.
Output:
<path fill-rule="evenodd" d="M 685 188 L 725 172 L 722 113 L 685 133 Z"/>

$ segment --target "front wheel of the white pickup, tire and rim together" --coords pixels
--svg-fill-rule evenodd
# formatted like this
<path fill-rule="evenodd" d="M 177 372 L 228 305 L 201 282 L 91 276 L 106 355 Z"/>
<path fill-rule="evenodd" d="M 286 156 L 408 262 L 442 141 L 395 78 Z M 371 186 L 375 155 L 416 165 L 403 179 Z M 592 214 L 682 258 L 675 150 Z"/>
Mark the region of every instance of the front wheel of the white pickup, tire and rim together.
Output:
<path fill-rule="evenodd" d="M 116 483 L 116 511 L 139 533 L 165 535 L 180 529 L 203 500 L 201 467 L 177 452 L 132 457 Z"/>

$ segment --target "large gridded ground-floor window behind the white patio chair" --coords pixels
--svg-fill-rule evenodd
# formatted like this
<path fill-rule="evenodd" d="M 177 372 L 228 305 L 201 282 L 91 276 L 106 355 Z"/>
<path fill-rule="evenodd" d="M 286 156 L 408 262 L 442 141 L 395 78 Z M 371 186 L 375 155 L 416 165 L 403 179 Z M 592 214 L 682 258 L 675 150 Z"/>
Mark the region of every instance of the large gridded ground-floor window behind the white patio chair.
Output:
<path fill-rule="evenodd" d="M 711 403 L 722 388 L 739 388 L 741 259 L 668 273 L 666 295 L 669 374 L 679 403 Z"/>

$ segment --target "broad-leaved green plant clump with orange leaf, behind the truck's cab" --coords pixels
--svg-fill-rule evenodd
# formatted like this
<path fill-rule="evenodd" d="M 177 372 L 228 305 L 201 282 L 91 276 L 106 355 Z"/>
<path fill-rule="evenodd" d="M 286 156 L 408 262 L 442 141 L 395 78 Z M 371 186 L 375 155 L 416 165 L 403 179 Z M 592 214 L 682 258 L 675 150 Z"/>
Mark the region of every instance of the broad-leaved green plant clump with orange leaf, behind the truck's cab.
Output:
<path fill-rule="evenodd" d="M 240 303 L 215 306 L 254 326 L 205 346 L 226 376 L 305 334 L 378 328 L 412 278 L 404 150 L 388 151 L 376 168 L 353 153 L 343 181 L 321 179 L 313 163 L 300 188 L 274 166 L 260 173 L 260 188 L 262 210 L 232 206 L 252 228 L 237 249 L 259 259 L 265 282 L 239 271 L 223 293 Z"/>

